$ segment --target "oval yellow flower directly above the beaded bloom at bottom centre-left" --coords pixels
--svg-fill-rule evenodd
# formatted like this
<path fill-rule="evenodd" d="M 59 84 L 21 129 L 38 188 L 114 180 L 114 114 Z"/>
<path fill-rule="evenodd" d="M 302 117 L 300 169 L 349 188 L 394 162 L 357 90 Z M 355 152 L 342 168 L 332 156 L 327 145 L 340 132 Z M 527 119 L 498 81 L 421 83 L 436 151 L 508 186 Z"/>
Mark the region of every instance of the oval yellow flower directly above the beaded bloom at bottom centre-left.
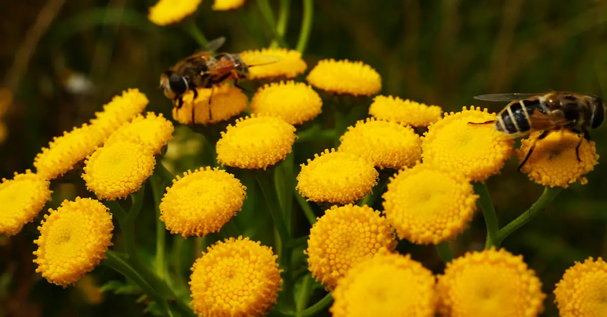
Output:
<path fill-rule="evenodd" d="M 234 175 L 211 167 L 177 176 L 160 202 L 160 220 L 167 230 L 188 236 L 205 236 L 219 230 L 245 201 L 246 187 Z M 187 197 L 188 199 L 183 199 Z"/>

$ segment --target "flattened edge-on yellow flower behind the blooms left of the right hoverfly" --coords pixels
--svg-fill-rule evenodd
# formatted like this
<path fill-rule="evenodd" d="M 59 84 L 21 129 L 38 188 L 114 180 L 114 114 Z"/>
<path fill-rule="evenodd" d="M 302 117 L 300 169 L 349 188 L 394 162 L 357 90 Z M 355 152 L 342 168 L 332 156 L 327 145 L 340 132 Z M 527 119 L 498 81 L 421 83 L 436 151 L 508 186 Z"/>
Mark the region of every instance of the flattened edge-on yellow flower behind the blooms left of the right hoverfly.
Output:
<path fill-rule="evenodd" d="M 376 96 L 369 107 L 369 114 L 381 120 L 413 127 L 427 127 L 441 118 L 443 109 L 438 105 L 420 104 L 409 99 Z"/>

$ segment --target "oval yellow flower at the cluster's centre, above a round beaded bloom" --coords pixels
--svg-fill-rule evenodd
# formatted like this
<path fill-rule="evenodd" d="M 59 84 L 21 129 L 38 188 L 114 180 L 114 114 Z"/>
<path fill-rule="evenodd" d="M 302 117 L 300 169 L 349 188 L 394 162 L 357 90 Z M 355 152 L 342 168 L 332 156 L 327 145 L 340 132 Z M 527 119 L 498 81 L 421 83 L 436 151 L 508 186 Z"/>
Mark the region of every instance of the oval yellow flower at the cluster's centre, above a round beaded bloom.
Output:
<path fill-rule="evenodd" d="M 301 164 L 297 175 L 299 193 L 309 201 L 350 204 L 371 192 L 379 173 L 373 162 L 351 153 L 325 150 Z"/>

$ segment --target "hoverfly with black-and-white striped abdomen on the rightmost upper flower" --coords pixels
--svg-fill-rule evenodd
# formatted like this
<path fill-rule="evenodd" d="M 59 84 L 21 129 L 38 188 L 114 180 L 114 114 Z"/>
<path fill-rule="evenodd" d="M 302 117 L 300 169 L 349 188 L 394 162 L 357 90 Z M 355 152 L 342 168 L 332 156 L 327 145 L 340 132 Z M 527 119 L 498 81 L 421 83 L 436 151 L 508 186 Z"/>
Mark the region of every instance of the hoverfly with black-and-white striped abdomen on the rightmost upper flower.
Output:
<path fill-rule="evenodd" d="M 470 124 L 495 124 L 495 128 L 512 138 L 521 138 L 529 133 L 541 131 L 529 148 L 518 170 L 527 162 L 535 142 L 546 138 L 554 130 L 570 130 L 590 141 L 589 129 L 600 127 L 605 121 L 607 105 L 598 96 L 586 96 L 573 92 L 549 92 L 543 95 L 532 93 L 497 93 L 475 96 L 485 101 L 511 101 L 498 114 L 496 120 L 469 122 Z M 575 156 L 580 160 L 579 149 L 582 137 L 575 147 Z"/>

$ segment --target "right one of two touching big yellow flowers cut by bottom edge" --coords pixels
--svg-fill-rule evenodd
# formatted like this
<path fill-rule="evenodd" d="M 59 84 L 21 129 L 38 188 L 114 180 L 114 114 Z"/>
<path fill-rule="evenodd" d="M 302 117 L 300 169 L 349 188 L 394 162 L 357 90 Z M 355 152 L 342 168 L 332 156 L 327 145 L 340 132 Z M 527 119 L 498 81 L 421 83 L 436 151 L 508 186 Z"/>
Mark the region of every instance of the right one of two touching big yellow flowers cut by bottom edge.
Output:
<path fill-rule="evenodd" d="M 447 263 L 436 290 L 441 316 L 451 317 L 538 316 L 546 298 L 523 256 L 503 249 L 468 252 Z"/>

